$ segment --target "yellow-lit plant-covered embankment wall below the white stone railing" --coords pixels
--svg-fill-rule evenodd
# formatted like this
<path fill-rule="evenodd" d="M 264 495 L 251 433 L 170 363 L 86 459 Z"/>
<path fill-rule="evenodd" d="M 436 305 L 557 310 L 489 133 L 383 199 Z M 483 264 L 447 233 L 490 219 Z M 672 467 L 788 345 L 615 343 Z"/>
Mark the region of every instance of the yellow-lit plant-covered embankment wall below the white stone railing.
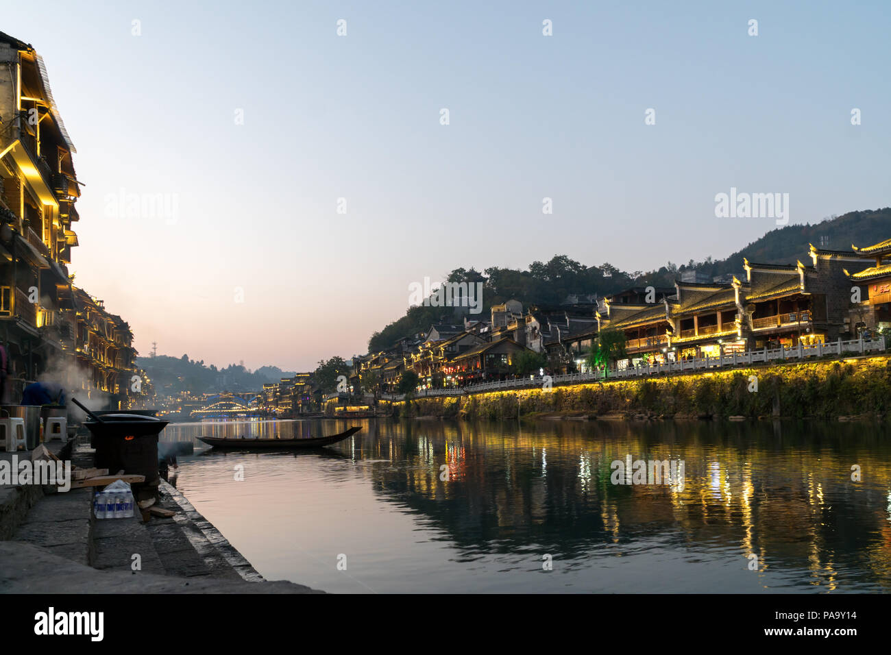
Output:
<path fill-rule="evenodd" d="M 891 408 L 891 357 L 755 366 L 714 373 L 518 389 L 391 405 L 404 417 L 516 419 L 884 417 Z"/>

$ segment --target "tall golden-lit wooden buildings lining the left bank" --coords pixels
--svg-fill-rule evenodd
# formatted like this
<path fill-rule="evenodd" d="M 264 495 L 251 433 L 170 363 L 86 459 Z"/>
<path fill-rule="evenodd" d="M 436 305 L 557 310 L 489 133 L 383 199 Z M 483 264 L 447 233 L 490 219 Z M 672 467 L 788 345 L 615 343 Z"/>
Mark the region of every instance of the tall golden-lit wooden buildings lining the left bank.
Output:
<path fill-rule="evenodd" d="M 0 32 L 0 340 L 18 402 L 46 374 L 118 409 L 143 395 L 133 333 L 72 284 L 75 152 L 35 49 Z"/>

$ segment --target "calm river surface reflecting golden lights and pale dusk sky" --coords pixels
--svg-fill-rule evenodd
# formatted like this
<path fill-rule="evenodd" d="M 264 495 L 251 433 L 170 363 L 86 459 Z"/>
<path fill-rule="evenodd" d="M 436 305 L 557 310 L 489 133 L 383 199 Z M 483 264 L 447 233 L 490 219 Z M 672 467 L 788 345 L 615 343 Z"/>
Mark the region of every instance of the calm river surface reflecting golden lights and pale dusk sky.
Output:
<path fill-rule="evenodd" d="M 321 452 L 202 452 L 196 440 L 178 486 L 265 577 L 331 592 L 891 591 L 885 428 L 361 424 Z M 347 427 L 179 424 L 162 438 Z M 612 484 L 610 463 L 627 455 L 683 461 L 683 487 Z"/>

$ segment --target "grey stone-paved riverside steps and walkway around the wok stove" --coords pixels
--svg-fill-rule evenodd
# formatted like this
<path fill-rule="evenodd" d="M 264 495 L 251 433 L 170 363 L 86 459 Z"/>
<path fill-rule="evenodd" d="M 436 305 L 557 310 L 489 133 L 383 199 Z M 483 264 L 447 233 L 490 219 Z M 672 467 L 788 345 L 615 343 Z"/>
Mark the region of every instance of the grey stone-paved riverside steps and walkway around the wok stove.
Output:
<path fill-rule="evenodd" d="M 92 465 L 90 452 L 45 446 Z M 175 516 L 143 523 L 138 512 L 96 520 L 92 488 L 0 487 L 0 593 L 322 593 L 264 580 L 176 488 L 162 482 L 160 490 L 159 506 Z"/>

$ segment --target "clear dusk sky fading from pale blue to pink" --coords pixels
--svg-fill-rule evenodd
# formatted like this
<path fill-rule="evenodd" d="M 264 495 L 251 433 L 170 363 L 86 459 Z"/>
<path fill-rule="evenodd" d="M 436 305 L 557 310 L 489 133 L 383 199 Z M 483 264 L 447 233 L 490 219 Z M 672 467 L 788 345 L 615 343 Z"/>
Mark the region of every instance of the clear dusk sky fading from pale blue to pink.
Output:
<path fill-rule="evenodd" d="M 732 188 L 788 193 L 792 224 L 886 207 L 889 18 L 0 0 L 78 148 L 75 283 L 143 355 L 299 371 L 364 353 L 412 282 L 459 266 L 725 258 L 776 226 L 716 217 Z"/>

